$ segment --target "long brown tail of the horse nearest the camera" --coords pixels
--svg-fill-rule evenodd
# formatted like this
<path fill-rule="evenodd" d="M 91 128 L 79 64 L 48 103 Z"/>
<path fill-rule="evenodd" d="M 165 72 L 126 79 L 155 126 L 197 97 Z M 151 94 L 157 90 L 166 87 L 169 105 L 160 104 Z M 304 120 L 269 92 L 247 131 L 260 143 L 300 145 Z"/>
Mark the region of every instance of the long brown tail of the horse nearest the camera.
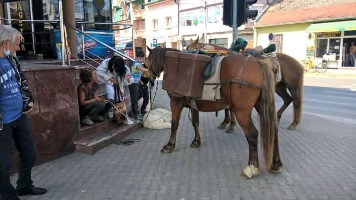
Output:
<path fill-rule="evenodd" d="M 260 131 L 265 165 L 269 171 L 272 165 L 274 137 L 277 137 L 277 115 L 274 102 L 275 79 L 272 70 L 264 60 L 259 60 L 262 73 L 262 94 L 259 99 Z"/>

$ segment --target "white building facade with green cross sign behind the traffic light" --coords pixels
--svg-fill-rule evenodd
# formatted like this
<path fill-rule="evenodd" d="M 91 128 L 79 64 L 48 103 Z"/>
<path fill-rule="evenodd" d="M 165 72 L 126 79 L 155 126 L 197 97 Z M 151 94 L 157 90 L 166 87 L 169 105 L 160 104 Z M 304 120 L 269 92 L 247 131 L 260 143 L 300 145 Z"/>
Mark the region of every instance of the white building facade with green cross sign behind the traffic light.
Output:
<path fill-rule="evenodd" d="M 184 49 L 190 39 L 198 36 L 201 42 L 214 43 L 229 48 L 232 43 L 232 28 L 223 25 L 223 0 L 179 0 L 179 38 Z M 267 0 L 258 0 L 250 9 L 262 14 Z M 238 37 L 248 41 L 248 48 L 253 47 L 254 20 L 248 20 L 238 28 Z"/>

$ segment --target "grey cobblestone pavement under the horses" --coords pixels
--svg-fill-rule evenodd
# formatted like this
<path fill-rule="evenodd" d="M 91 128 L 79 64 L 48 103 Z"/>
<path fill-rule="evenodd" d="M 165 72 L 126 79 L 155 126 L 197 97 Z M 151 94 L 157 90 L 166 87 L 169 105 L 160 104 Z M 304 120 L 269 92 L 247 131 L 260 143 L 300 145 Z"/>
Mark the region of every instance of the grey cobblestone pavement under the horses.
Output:
<path fill-rule="evenodd" d="M 161 89 L 154 103 L 158 107 L 170 109 Z M 256 113 L 253 118 L 258 127 Z M 218 118 L 201 113 L 202 146 L 190 148 L 194 129 L 184 109 L 172 154 L 160 153 L 170 130 L 141 128 L 129 136 L 140 139 L 131 146 L 113 144 L 92 156 L 73 153 L 34 167 L 34 184 L 49 192 L 21 199 L 355 200 L 356 125 L 304 113 L 302 124 L 289 131 L 291 119 L 289 106 L 279 124 L 280 174 L 266 173 L 260 155 L 264 173 L 251 180 L 239 176 L 248 161 L 248 144 L 239 126 L 235 134 L 217 129 L 223 112 Z"/>

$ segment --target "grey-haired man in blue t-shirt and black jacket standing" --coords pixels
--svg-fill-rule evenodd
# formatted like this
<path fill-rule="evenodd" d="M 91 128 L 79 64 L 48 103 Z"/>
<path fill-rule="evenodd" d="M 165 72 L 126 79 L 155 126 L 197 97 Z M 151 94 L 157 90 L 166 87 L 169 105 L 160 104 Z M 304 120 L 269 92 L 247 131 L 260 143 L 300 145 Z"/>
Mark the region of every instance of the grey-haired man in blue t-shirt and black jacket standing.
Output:
<path fill-rule="evenodd" d="M 20 50 L 21 38 L 16 29 L 0 24 L 0 200 L 19 200 L 17 196 L 47 192 L 32 185 L 36 147 L 26 114 L 33 108 L 33 98 L 13 57 Z M 10 183 L 12 139 L 20 157 L 16 189 Z"/>

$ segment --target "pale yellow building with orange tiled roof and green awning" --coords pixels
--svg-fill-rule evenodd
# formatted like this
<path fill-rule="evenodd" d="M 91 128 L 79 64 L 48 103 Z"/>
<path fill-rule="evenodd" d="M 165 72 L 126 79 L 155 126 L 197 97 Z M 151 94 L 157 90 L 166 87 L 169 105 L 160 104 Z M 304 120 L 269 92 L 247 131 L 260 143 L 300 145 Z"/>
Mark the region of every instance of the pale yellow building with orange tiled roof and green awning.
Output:
<path fill-rule="evenodd" d="M 356 0 L 275 1 L 255 26 L 255 43 L 275 43 L 277 52 L 299 61 L 324 58 L 329 68 L 355 67 L 349 62 L 351 42 L 356 43 L 355 8 Z"/>

